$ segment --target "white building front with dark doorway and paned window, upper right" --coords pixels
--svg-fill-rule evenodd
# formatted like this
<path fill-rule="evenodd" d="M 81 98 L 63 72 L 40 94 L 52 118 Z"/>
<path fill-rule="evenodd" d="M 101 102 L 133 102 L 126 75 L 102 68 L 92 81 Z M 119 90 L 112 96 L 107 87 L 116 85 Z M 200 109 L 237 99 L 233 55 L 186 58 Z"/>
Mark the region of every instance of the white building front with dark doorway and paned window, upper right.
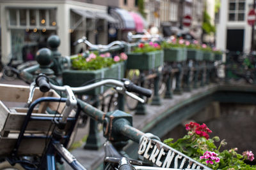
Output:
<path fill-rule="evenodd" d="M 220 18 L 216 24 L 217 48 L 250 52 L 252 26 L 247 19 L 252 7 L 252 0 L 221 0 Z"/>

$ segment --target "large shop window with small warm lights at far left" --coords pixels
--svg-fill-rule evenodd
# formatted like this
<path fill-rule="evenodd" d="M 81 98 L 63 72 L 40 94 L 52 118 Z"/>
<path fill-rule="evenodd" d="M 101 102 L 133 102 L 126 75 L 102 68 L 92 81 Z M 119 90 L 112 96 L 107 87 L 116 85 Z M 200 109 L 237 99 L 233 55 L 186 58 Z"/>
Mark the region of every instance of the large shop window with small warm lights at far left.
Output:
<path fill-rule="evenodd" d="M 12 56 L 15 60 L 34 60 L 35 53 L 47 46 L 47 38 L 56 34 L 56 8 L 8 9 Z"/>

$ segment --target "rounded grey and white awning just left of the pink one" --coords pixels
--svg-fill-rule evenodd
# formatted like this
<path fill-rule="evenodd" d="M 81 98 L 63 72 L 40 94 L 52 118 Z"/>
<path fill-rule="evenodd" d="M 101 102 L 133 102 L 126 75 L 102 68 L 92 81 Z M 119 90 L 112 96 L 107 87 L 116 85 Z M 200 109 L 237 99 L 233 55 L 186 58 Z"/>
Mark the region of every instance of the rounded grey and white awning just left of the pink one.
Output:
<path fill-rule="evenodd" d="M 135 30 L 136 25 L 134 18 L 129 11 L 120 8 L 111 8 L 109 10 L 110 15 L 118 20 L 118 23 L 112 24 L 116 29 Z"/>

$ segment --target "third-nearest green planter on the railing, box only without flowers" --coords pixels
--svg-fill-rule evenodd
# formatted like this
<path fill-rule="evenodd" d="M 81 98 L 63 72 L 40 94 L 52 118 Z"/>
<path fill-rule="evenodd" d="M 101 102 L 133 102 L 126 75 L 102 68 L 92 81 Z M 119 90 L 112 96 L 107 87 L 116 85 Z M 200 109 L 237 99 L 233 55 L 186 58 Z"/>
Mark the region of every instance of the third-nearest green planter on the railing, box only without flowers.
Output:
<path fill-rule="evenodd" d="M 187 60 L 186 48 L 165 48 L 164 61 L 166 62 L 182 62 Z"/>

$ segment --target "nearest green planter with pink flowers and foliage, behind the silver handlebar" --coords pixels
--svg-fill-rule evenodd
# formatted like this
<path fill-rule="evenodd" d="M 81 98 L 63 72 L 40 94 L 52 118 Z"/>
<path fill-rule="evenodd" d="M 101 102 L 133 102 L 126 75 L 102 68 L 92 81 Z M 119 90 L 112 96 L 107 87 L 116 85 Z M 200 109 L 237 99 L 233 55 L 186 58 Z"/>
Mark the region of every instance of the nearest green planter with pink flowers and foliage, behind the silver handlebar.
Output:
<path fill-rule="evenodd" d="M 124 78 L 125 53 L 111 57 L 110 53 L 90 53 L 88 57 L 78 55 L 72 59 L 72 68 L 63 71 L 63 84 L 71 87 L 79 87 L 90 81 L 91 83 L 104 78 Z M 99 87 L 85 94 L 97 95 L 107 87 Z"/>

